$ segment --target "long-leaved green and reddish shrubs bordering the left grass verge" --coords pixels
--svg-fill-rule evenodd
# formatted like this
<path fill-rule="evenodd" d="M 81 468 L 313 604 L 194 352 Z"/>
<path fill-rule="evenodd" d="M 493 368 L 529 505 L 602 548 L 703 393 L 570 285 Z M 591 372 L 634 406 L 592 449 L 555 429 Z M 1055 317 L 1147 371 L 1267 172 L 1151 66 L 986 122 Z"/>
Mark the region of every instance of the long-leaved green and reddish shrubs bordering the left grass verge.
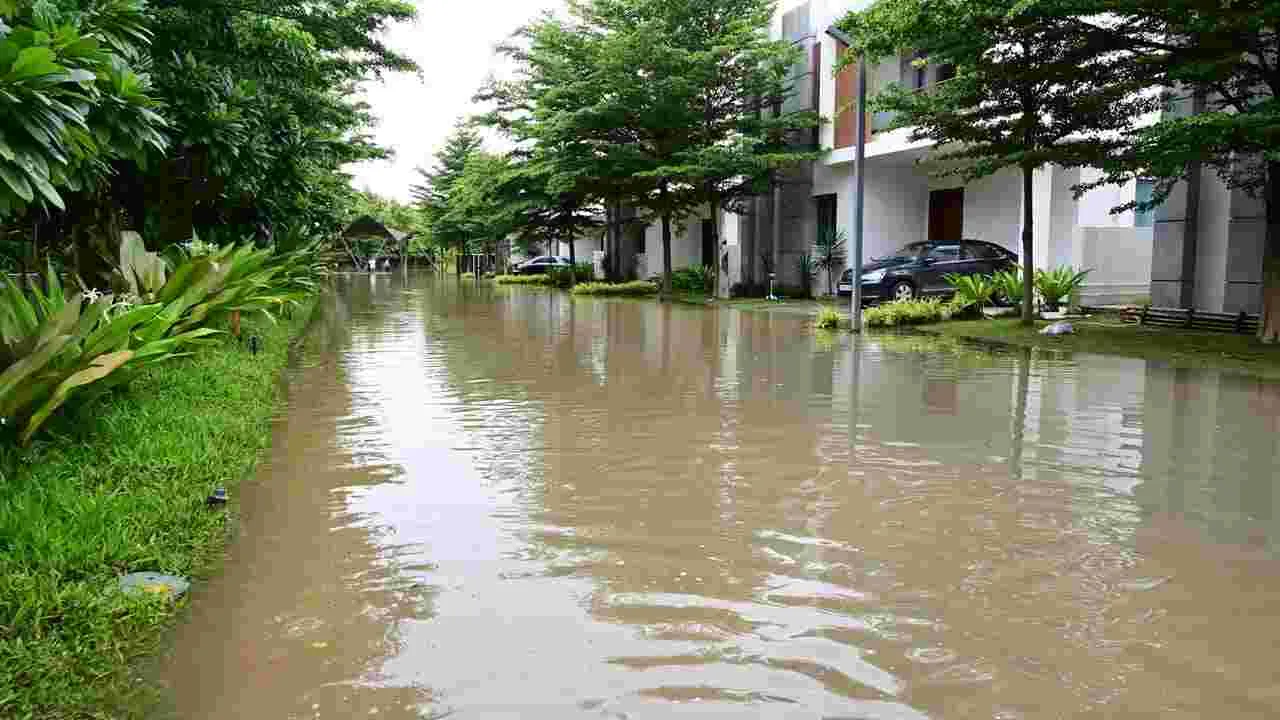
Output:
<path fill-rule="evenodd" d="M 273 255 L 227 246 L 186 258 L 169 272 L 136 233 L 120 243 L 113 282 L 122 295 L 68 296 L 52 266 L 41 283 L 0 287 L 0 418 L 26 445 L 49 416 L 77 397 L 95 397 L 140 369 L 205 345 L 209 325 L 238 314 L 297 305 L 328 272 L 311 245 Z"/>

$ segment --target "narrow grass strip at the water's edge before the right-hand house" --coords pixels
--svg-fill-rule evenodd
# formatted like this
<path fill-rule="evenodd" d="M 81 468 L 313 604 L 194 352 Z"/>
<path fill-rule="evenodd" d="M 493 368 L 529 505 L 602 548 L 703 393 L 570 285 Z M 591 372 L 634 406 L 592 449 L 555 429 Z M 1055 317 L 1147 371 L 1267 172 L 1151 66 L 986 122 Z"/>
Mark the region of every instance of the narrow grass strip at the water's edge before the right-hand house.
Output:
<path fill-rule="evenodd" d="M 1039 329 L 1050 324 L 1047 322 L 1024 328 L 1016 319 L 952 320 L 919 329 L 943 337 L 1020 347 L 1125 355 L 1161 360 L 1179 368 L 1219 368 L 1280 377 L 1280 346 L 1262 345 L 1253 336 L 1142 327 L 1110 316 L 1070 323 L 1075 327 L 1075 334 L 1059 337 L 1039 334 Z"/>

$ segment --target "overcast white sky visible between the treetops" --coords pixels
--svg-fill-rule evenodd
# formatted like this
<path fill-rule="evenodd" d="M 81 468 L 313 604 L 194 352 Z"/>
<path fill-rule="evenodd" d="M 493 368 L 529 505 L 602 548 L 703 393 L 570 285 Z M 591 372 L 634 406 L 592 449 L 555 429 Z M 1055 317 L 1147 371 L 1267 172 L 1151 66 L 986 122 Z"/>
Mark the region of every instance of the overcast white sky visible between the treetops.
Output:
<path fill-rule="evenodd" d="M 561 0 L 415 0 L 417 22 L 396 27 L 392 47 L 422 68 L 421 77 L 388 76 L 370 82 L 365 95 L 379 118 L 374 138 L 396 151 L 392 160 L 351 168 L 360 190 L 408 200 L 415 168 L 429 167 L 453 122 L 470 114 L 471 96 L 490 72 L 499 70 L 495 45 Z"/>

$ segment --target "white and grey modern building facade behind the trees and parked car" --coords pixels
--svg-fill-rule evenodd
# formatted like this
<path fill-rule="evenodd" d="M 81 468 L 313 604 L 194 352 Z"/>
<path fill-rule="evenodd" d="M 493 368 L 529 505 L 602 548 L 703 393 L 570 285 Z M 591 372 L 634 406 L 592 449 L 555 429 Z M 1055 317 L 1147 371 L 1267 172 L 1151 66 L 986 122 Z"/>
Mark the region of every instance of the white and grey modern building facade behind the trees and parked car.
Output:
<path fill-rule="evenodd" d="M 817 133 L 818 146 L 829 151 L 778 178 L 772 192 L 745 202 L 740 213 L 722 213 L 719 247 L 708 233 L 709 215 L 685 220 L 673 233 L 675 269 L 719 263 L 722 295 L 765 287 L 771 270 L 778 284 L 795 287 L 800 284 L 800 256 L 813 252 L 820 232 L 833 228 L 852 237 L 856 138 L 851 108 L 856 68 L 833 72 L 846 47 L 826 31 L 847 12 L 867 4 L 808 0 L 780 8 L 773 35 L 803 49 L 790 102 L 813 108 L 829 120 Z M 870 65 L 868 95 L 893 82 L 927 90 L 950 77 L 946 65 L 916 67 L 913 59 L 904 53 Z M 1171 111 L 1188 110 L 1175 105 Z M 870 114 L 865 123 L 864 261 L 925 240 L 982 240 L 1020 255 L 1019 172 L 1006 169 L 972 182 L 941 177 L 932 164 L 932 143 L 913 142 L 909 129 L 890 129 L 891 123 L 884 113 Z M 1091 269 L 1082 291 L 1088 304 L 1149 297 L 1156 306 L 1257 313 L 1265 237 L 1262 205 L 1229 191 L 1212 172 L 1201 176 L 1153 211 L 1112 213 L 1112 208 L 1149 197 L 1151 183 L 1105 186 L 1076 199 L 1073 186 L 1096 179 L 1098 170 L 1037 170 L 1036 266 Z M 634 238 L 627 250 L 637 254 L 635 275 L 662 272 L 660 237 L 660 225 L 653 223 Z M 851 250 L 850 241 L 846 255 Z M 828 291 L 822 273 L 813 287 Z"/>

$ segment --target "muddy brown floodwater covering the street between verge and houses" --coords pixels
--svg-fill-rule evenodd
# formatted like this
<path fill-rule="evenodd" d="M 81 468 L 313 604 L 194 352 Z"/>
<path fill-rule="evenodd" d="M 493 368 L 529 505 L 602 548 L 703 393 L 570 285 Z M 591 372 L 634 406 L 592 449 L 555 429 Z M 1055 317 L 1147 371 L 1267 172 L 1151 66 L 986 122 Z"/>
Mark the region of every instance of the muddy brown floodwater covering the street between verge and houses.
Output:
<path fill-rule="evenodd" d="M 1280 384 L 337 286 L 175 717 L 1280 716 Z"/>

